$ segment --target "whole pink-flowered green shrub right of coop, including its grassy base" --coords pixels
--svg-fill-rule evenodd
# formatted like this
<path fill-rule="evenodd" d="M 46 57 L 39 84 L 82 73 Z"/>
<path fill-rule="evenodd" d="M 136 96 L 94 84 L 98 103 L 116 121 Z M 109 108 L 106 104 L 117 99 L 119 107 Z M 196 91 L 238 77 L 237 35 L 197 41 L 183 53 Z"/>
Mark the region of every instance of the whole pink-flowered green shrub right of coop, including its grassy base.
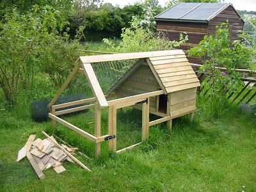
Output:
<path fill-rule="evenodd" d="M 198 47 L 191 48 L 189 56 L 202 60 L 200 72 L 204 72 L 205 88 L 209 89 L 208 95 L 200 96 L 200 113 L 206 116 L 221 116 L 231 108 L 227 100 L 227 93 L 236 91 L 242 84 L 241 74 L 234 68 L 238 64 L 248 65 L 252 59 L 252 52 L 238 41 L 232 42 L 228 24 L 216 26 L 216 35 L 204 36 Z M 219 67 L 225 67 L 219 68 Z"/>

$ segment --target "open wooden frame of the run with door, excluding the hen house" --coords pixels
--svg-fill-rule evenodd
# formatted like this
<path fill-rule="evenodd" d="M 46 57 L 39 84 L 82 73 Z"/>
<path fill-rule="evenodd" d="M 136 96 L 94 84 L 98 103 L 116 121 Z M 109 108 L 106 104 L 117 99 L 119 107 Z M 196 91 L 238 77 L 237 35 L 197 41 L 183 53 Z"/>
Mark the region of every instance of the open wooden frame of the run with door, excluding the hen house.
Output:
<path fill-rule="evenodd" d="M 173 51 L 154 51 L 154 52 L 135 52 L 135 53 L 126 53 L 126 54 L 113 54 L 111 55 L 100 55 L 100 56 L 81 56 L 79 57 L 79 60 L 77 60 L 76 67 L 70 75 L 67 77 L 66 81 L 63 83 L 61 88 L 56 93 L 55 97 L 51 100 L 49 103 L 49 108 L 51 110 L 51 113 L 49 113 L 49 118 L 51 118 L 51 124 L 52 129 L 55 132 L 56 130 L 56 122 L 65 125 L 65 127 L 68 127 L 69 129 L 77 132 L 78 134 L 81 134 L 84 138 L 87 138 L 90 141 L 93 141 L 95 143 L 95 157 L 98 157 L 100 155 L 100 143 L 102 141 L 108 141 L 109 142 L 109 150 L 121 153 L 126 150 L 129 150 L 131 148 L 134 148 L 136 145 L 140 145 L 143 141 L 147 140 L 148 134 L 149 134 L 149 127 L 160 124 L 163 122 L 167 122 L 167 125 L 169 129 L 172 128 L 172 119 L 176 118 L 177 116 L 171 116 L 170 111 L 168 113 L 163 114 L 163 118 L 159 118 L 158 120 L 154 120 L 152 122 L 149 121 L 149 113 L 150 113 L 150 97 L 154 97 L 157 95 L 164 94 L 166 90 L 158 90 L 154 92 L 148 92 L 148 93 L 142 93 L 138 95 L 133 95 L 129 97 L 124 97 L 120 99 L 114 99 L 114 100 L 106 100 L 106 98 L 115 97 L 115 94 L 108 94 L 104 95 L 102 92 L 102 89 L 100 88 L 99 81 L 97 80 L 97 77 L 95 75 L 95 72 L 92 68 L 91 63 L 99 63 L 103 61 L 116 61 L 116 60 L 130 60 L 130 59 L 147 59 L 154 56 L 166 56 L 166 54 L 184 54 L 184 52 L 180 52 L 179 50 L 173 50 Z M 93 91 L 93 95 L 95 97 L 89 98 L 89 99 L 82 99 L 82 100 L 76 100 L 73 102 L 67 102 L 64 104 L 56 104 L 56 100 L 58 97 L 60 97 L 61 93 L 67 88 L 68 84 L 72 80 L 74 76 L 76 76 L 77 73 L 84 74 L 86 78 L 88 79 L 90 86 Z M 170 100 L 170 94 L 168 96 L 168 99 Z M 88 104 L 90 103 L 90 104 Z M 134 106 L 135 104 L 141 103 L 141 110 L 142 110 L 142 127 L 141 127 L 141 142 L 136 143 L 134 145 L 131 145 L 130 147 L 123 148 L 121 150 L 116 150 L 116 109 L 119 108 L 125 108 L 128 106 Z M 77 105 L 83 105 L 78 106 Z M 72 107 L 70 109 L 62 109 L 66 107 Z M 101 109 L 108 107 L 108 134 L 102 136 L 101 135 Z M 80 129 L 79 127 L 76 127 L 75 125 L 72 125 L 68 123 L 67 121 L 61 119 L 59 115 L 72 113 L 75 111 L 82 111 L 84 109 L 95 109 L 95 129 L 94 129 L 94 135 L 84 131 L 83 129 Z M 62 110 L 61 110 L 62 109 Z M 191 114 L 191 118 L 193 118 L 192 114 L 194 111 L 189 111 L 189 114 Z M 159 115 L 157 112 L 154 113 L 156 115 Z M 188 114 L 188 112 L 184 113 Z M 182 114 L 182 115 L 184 115 Z M 180 116 L 180 115 L 179 115 Z"/>

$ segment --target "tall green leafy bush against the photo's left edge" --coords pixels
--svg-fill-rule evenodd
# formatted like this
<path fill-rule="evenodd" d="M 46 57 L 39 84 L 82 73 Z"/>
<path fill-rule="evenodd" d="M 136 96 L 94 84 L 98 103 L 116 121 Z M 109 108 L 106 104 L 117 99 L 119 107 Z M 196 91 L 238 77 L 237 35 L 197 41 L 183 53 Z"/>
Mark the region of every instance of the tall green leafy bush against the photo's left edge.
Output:
<path fill-rule="evenodd" d="M 38 63 L 38 26 L 31 15 L 15 10 L 0 24 L 0 85 L 10 104 L 15 104 L 19 86 L 27 87 L 33 81 Z"/>

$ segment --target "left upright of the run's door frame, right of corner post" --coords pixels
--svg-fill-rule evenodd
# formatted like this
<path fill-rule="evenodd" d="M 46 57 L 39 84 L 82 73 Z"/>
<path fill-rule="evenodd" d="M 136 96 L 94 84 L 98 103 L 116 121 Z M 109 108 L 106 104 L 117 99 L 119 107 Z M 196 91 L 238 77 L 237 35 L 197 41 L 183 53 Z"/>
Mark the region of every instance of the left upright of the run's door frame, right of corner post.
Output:
<path fill-rule="evenodd" d="M 109 106 L 108 109 L 108 135 L 116 136 L 116 107 Z M 116 152 L 116 138 L 108 141 L 109 150 Z"/>

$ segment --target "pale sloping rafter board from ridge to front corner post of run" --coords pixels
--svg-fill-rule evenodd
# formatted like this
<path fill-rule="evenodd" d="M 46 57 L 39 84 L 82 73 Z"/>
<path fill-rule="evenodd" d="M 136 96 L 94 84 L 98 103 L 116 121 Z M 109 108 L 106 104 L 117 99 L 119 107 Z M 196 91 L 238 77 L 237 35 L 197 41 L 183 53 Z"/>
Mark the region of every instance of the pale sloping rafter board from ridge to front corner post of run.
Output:
<path fill-rule="evenodd" d="M 102 92 L 99 81 L 95 75 L 95 72 L 92 68 L 91 63 L 82 63 L 82 68 L 84 70 L 84 74 L 87 77 L 90 86 L 92 88 L 93 94 L 96 97 L 100 107 L 107 107 L 108 101 Z"/>

